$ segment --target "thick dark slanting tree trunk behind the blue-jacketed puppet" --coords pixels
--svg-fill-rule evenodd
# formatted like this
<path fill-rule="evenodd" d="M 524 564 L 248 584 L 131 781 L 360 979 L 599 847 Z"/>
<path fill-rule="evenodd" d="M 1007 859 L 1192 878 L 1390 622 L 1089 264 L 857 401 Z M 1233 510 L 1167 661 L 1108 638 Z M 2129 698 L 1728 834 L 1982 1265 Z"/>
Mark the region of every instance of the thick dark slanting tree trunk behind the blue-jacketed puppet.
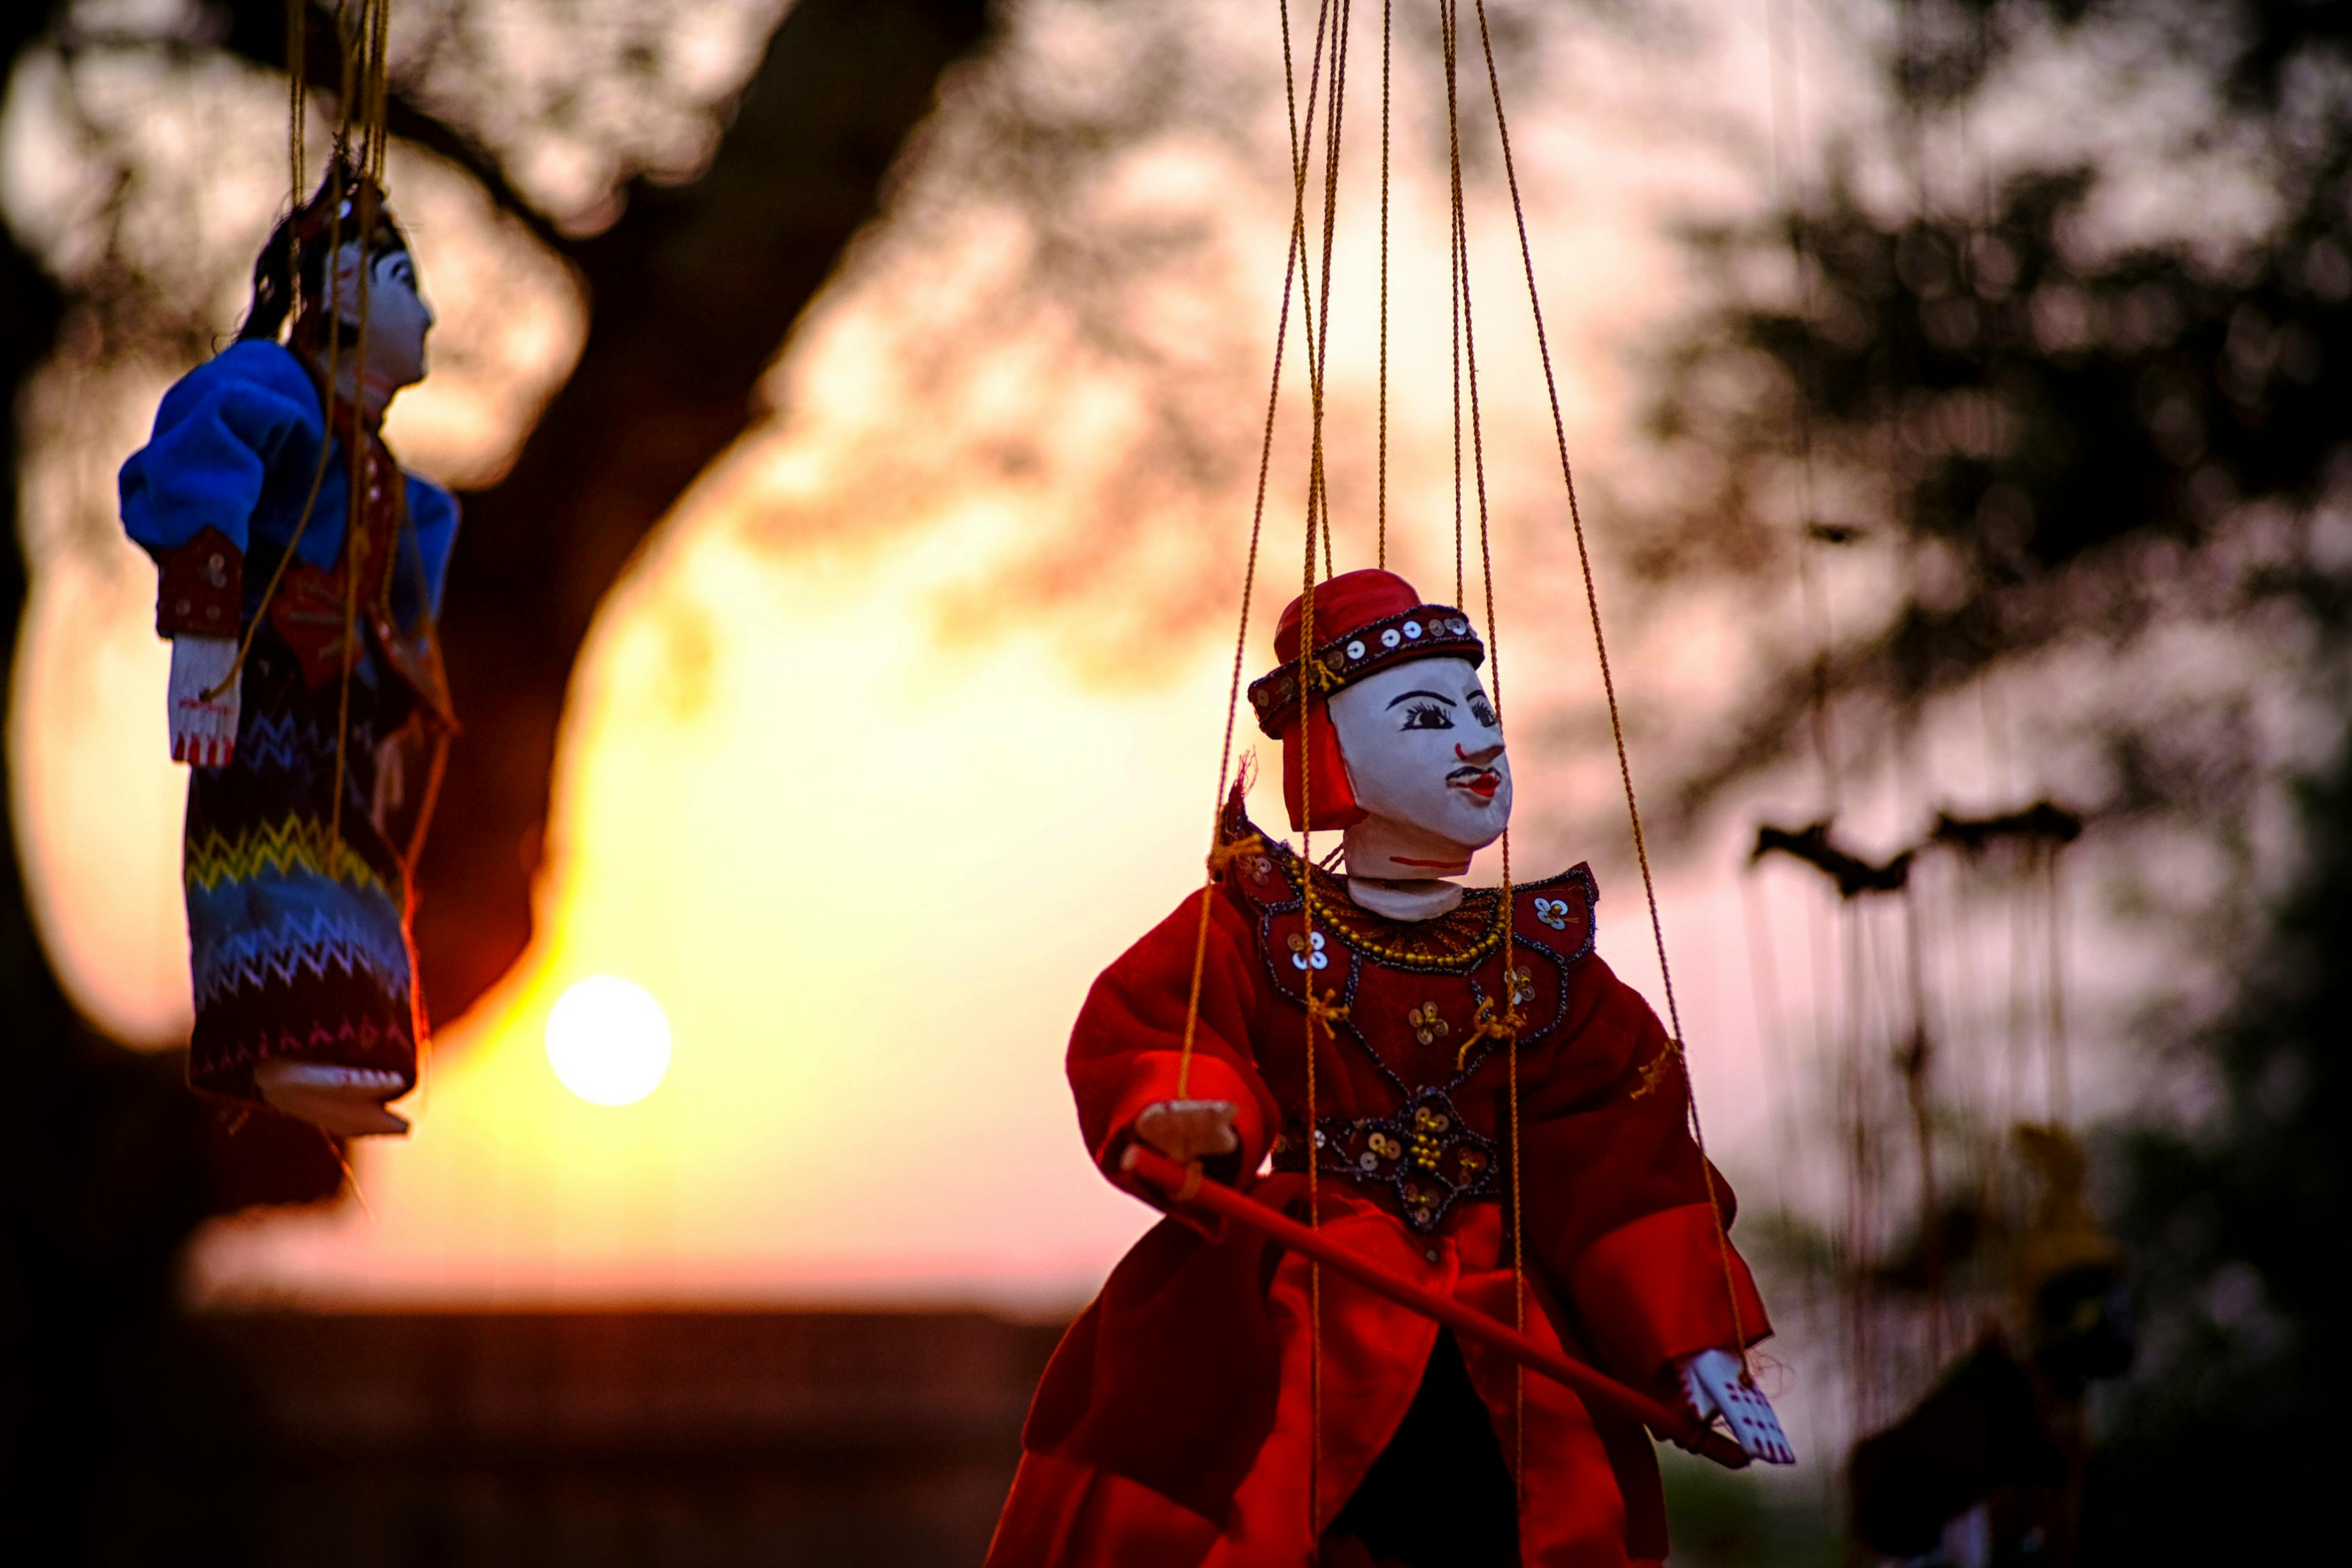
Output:
<path fill-rule="evenodd" d="M 228 12 L 226 47 L 282 59 L 278 0 Z M 743 433 L 760 374 L 880 212 L 884 176 L 938 75 L 981 45 L 985 12 L 983 0 L 800 0 L 708 165 L 684 183 L 630 174 L 604 193 L 612 221 L 579 237 L 515 190 L 456 110 L 430 103 L 433 40 L 395 66 L 395 134 L 473 172 L 572 266 L 590 310 L 579 364 L 515 465 L 463 496 L 442 644 L 459 715 L 482 741 L 452 752 L 445 799 L 461 809 L 437 823 L 421 870 L 430 898 L 416 945 L 440 1016 L 480 997 L 529 940 L 557 726 L 597 604 Z M 310 35 L 310 78 L 329 87 L 339 61 L 325 19 Z"/>

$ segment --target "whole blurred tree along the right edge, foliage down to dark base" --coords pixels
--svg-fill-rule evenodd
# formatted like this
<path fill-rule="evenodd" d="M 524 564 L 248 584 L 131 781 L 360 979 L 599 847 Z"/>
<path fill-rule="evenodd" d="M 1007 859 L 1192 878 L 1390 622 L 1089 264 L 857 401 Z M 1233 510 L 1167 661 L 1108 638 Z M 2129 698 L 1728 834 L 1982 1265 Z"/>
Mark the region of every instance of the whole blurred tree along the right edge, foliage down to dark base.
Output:
<path fill-rule="evenodd" d="M 2013 675 L 2093 830 L 2173 851 L 2143 929 L 2211 987 L 2140 1027 L 2166 1072 L 2117 1175 L 2147 1338 L 2086 1552 L 2286 1554 L 2324 1495 L 2347 1201 L 2352 7 L 1875 19 L 1889 122 L 1696 235 L 1715 303 L 1663 362 L 1656 435 L 1700 480 L 1651 581 L 1846 590 L 1684 804 L 1823 731 L 1832 780 L 1900 776 L 1938 703 Z"/>

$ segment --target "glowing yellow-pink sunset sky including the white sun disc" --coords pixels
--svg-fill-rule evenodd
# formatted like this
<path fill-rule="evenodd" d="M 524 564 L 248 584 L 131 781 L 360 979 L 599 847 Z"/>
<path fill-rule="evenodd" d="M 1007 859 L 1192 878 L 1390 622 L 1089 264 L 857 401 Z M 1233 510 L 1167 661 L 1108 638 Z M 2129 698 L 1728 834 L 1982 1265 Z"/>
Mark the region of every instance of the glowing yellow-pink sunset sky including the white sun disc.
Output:
<path fill-rule="evenodd" d="M 1279 94 L 1265 106 L 1261 153 L 1282 167 Z M 268 110 L 278 134 L 282 103 Z M 1536 237 L 1559 301 L 1550 343 L 1566 435 L 1581 463 L 1628 473 L 1621 414 L 1637 386 L 1623 343 L 1675 306 L 1656 209 L 1686 205 L 1712 165 L 1661 172 L 1562 125 L 1529 118 L 1526 174 L 1538 195 L 1576 190 L 1573 202 L 1538 202 L 1557 216 Z M 247 230 L 259 233 L 280 162 L 256 153 L 254 169 Z M 1190 148 L 1138 162 L 1134 195 L 1183 207 L 1185 179 L 1225 174 Z M 442 324 L 435 374 L 393 407 L 388 440 L 419 473 L 487 484 L 501 442 L 520 440 L 567 374 L 586 315 L 560 273 L 515 261 L 430 165 L 395 148 L 393 179 L 402 212 L 433 235 Z M 1397 209 L 1439 212 L 1432 181 L 1430 165 L 1399 160 Z M 1101 456 L 1129 440 L 1120 421 L 1155 428 L 1162 411 L 1073 357 L 1065 313 L 983 310 L 1002 212 L 981 212 L 955 242 L 891 249 L 875 230 L 795 329 L 769 376 L 771 411 L 682 496 L 597 611 L 550 780 L 529 952 L 475 1006 L 437 1006 L 419 1088 L 400 1105 L 414 1131 L 355 1150 L 365 1208 L 209 1225 L 188 1269 L 198 1300 L 983 1300 L 1070 1312 L 1101 1284 L 1155 1215 L 1094 1171 L 1063 1048 L 1094 976 L 1200 886 L 1289 197 L 1277 176 L 1216 202 L 1218 254 L 1230 249 L 1251 292 L 1192 308 L 1240 313 L 1232 386 L 1254 390 L 1240 435 L 1202 425 L 1232 435 L 1235 458 L 1223 489 L 1207 491 L 1174 484 L 1167 458 L 1127 475 Z M 1484 190 L 1472 212 L 1489 240 L 1510 216 L 1498 200 Z M 1442 235 L 1442 223 L 1399 230 L 1390 247 L 1399 306 L 1388 374 L 1414 390 L 1392 397 L 1378 491 L 1383 334 L 1371 301 L 1383 247 L 1369 176 L 1343 205 L 1334 289 L 1355 315 L 1329 348 L 1329 484 L 1338 569 L 1385 557 L 1454 597 Z M 943 256 L 955 266 L 943 270 Z M 1479 296 L 1515 301 L 1517 268 L 1512 247 L 1482 244 Z M 1160 334 L 1148 341 L 1190 331 L 1192 317 L 1157 292 L 1136 308 Z M 957 310 L 969 320 L 957 324 Z M 981 334 L 983 320 L 1011 322 L 1009 336 Z M 1498 306 L 1496 320 L 1479 339 L 1494 400 L 1496 668 L 1529 715 L 1578 712 L 1597 698 L 1597 672 L 1543 378 L 1524 317 Z M 927 346 L 913 367 L 891 357 L 906 331 Z M 960 343 L 962 360 L 941 357 Z M 920 425 L 908 376 L 946 374 L 941 364 L 962 367 L 957 395 L 922 404 L 922 418 L 962 425 L 908 440 Z M 1244 679 L 1272 656 L 1272 618 L 1301 585 L 1301 367 L 1296 353 L 1284 360 Z M 28 491 L 35 588 L 12 806 L 42 936 L 75 1001 L 108 1030 L 172 1046 L 191 1016 L 186 771 L 162 745 L 153 564 L 111 517 L 113 468 L 143 440 L 165 386 L 141 376 L 103 409 L 73 404 L 75 463 L 47 458 Z M 974 440 L 1025 456 L 960 461 Z M 934 449 L 953 473 L 924 489 L 917 458 Z M 1150 527 L 1138 496 L 1157 496 Z M 103 527 L 87 527 L 89 515 Z M 1477 559 L 1472 545 L 1465 597 L 1479 595 Z M 1658 726 L 1637 736 L 1637 771 L 1658 733 L 1700 722 L 1722 672 L 1719 625 L 1729 621 L 1712 604 L 1682 607 L 1670 635 L 1649 639 L 1630 618 L 1611 625 L 1630 712 Z M 1235 766 L 1254 731 L 1244 708 Z M 1602 860 L 1602 952 L 1658 994 L 1639 884 L 1616 877 L 1606 731 L 1599 743 L 1576 729 L 1524 733 L 1522 875 Z M 496 736 L 468 731 L 463 743 Z M 1279 764 L 1256 762 L 1251 809 L 1279 830 Z M 463 809 L 442 802 L 445 813 Z M 1708 1041 L 1693 1051 L 1708 1107 L 1719 1107 L 1708 1131 L 1738 1180 L 1766 1105 L 1738 884 L 1689 870 L 1733 863 L 1731 844 L 1691 846 L 1663 896 L 1682 1023 Z M 1475 875 L 1496 877 L 1496 858 Z"/>

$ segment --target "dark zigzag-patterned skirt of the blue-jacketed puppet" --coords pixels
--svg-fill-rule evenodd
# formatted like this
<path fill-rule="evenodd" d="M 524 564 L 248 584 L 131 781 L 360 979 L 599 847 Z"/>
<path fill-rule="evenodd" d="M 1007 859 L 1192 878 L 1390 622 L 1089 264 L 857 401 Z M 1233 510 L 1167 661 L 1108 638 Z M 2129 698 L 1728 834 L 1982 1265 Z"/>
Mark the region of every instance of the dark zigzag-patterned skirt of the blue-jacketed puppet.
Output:
<path fill-rule="evenodd" d="M 278 1058 L 416 1081 L 407 875 L 372 811 L 376 741 L 407 722 L 414 698 L 374 649 L 353 670 L 336 825 L 339 701 L 339 682 L 306 684 L 263 625 L 245 663 L 235 757 L 191 773 L 188 1084 L 207 1093 L 254 1100 L 254 1067 Z"/>

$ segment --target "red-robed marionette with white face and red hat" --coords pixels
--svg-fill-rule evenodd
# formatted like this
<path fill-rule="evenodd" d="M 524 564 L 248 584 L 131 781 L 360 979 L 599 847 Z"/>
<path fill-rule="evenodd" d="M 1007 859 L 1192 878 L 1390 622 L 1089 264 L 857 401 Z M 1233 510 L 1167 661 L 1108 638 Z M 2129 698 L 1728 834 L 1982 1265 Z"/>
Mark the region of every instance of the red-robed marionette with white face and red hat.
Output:
<path fill-rule="evenodd" d="M 1348 872 L 1258 842 L 1235 799 L 1190 1053 L 1200 896 L 1077 1018 L 1089 1150 L 1115 1175 L 1141 1140 L 1294 1218 L 1315 1159 L 1329 1241 L 1503 1324 L 1517 1185 L 1529 1338 L 1790 1462 L 1738 1356 L 1769 1324 L 1719 1229 L 1731 1190 L 1689 1135 L 1672 1041 L 1592 952 L 1592 875 L 1515 886 L 1508 919 L 1501 891 L 1451 882 L 1510 818 L 1470 621 L 1395 574 L 1350 571 L 1317 588 L 1315 630 L 1305 724 L 1296 602 L 1275 632 L 1282 665 L 1249 696 L 1284 745 L 1291 825 L 1345 830 Z M 1317 1286 L 1256 1232 L 1211 1229 L 1160 1222 L 1070 1328 L 990 1568 L 1665 1559 L 1637 1422 L 1522 1382 L 1498 1352 L 1329 1269 Z"/>

